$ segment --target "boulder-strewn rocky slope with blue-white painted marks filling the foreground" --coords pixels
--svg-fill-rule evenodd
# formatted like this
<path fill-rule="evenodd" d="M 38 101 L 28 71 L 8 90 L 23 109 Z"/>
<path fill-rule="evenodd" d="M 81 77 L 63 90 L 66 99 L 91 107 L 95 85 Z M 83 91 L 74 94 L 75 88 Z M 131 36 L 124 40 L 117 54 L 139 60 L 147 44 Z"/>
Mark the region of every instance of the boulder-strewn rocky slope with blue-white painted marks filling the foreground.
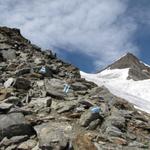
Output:
<path fill-rule="evenodd" d="M 0 149 L 150 149 L 150 117 L 18 29 L 1 27 Z"/>

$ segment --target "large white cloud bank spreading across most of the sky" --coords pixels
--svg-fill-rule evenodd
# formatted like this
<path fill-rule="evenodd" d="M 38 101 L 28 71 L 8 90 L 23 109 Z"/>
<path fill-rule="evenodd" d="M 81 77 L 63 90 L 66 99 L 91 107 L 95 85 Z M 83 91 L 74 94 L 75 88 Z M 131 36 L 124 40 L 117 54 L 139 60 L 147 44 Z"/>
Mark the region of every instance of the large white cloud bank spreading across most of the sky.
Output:
<path fill-rule="evenodd" d="M 138 52 L 127 6 L 127 0 L 0 0 L 0 25 L 20 28 L 43 48 L 85 53 L 102 66 L 127 51 Z"/>

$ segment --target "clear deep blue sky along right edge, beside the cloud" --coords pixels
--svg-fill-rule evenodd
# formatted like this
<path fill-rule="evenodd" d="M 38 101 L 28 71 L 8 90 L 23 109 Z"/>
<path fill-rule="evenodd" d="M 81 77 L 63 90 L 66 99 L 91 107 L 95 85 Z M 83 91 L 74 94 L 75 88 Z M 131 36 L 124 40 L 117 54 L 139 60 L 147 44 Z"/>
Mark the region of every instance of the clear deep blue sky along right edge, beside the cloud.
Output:
<path fill-rule="evenodd" d="M 131 0 L 129 15 L 133 15 L 137 23 L 134 34 L 134 43 L 140 50 L 138 57 L 150 65 L 150 1 Z"/>

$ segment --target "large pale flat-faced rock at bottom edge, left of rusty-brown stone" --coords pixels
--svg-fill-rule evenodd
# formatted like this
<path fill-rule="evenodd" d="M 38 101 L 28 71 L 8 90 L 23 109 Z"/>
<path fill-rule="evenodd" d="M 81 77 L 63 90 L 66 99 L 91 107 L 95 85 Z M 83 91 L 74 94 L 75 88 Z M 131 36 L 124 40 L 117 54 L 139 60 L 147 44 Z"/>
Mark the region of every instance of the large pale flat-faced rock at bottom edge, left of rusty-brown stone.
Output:
<path fill-rule="evenodd" d="M 41 149 L 67 149 L 72 126 L 65 122 L 51 122 L 36 126 Z"/>

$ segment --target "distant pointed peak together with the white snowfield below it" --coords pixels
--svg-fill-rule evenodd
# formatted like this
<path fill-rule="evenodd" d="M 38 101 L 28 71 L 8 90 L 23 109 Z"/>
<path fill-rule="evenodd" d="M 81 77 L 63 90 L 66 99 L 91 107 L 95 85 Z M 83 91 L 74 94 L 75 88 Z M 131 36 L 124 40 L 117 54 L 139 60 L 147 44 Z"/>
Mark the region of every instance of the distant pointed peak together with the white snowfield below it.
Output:
<path fill-rule="evenodd" d="M 99 73 L 80 73 L 86 80 L 104 85 L 114 95 L 150 113 L 150 66 L 133 54 L 127 53 Z"/>

